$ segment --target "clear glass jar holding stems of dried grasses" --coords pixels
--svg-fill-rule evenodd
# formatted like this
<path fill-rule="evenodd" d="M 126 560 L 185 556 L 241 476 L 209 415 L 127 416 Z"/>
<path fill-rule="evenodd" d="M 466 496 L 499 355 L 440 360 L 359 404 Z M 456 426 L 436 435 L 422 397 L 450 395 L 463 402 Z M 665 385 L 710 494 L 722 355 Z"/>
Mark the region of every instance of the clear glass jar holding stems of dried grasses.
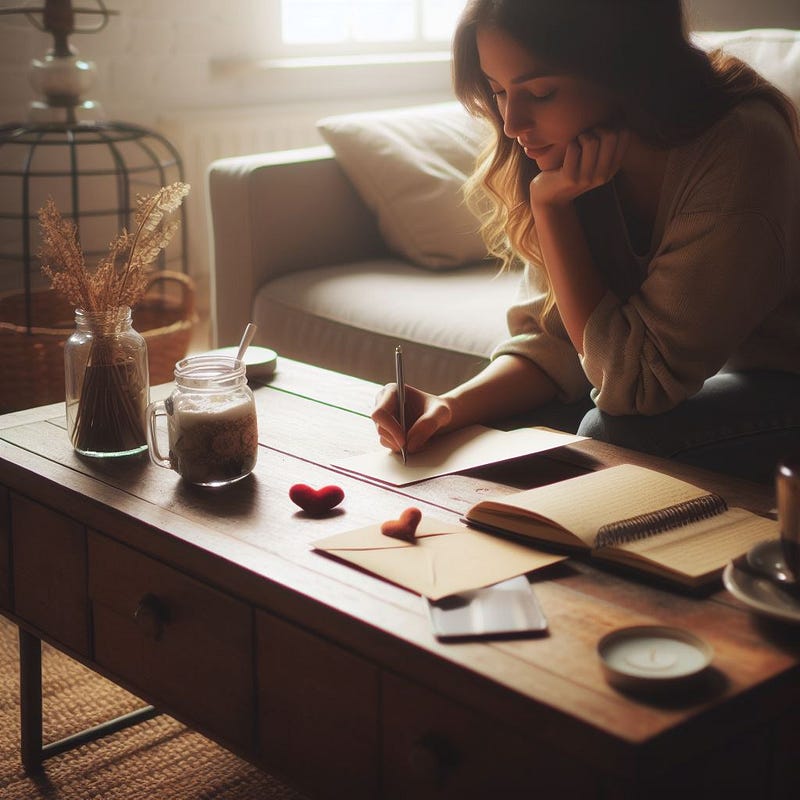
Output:
<path fill-rule="evenodd" d="M 67 432 L 81 455 L 113 458 L 147 449 L 147 342 L 131 310 L 75 311 L 64 345 Z"/>

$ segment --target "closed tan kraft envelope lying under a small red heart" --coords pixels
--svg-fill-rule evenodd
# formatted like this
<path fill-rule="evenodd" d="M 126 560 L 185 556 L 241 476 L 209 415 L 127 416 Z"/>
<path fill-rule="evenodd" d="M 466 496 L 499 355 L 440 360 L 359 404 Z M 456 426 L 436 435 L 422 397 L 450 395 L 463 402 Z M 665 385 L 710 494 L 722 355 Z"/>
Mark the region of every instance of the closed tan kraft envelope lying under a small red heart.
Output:
<path fill-rule="evenodd" d="M 490 586 L 566 558 L 428 518 L 420 522 L 414 543 L 385 536 L 380 525 L 368 525 L 313 546 L 431 600 Z"/>

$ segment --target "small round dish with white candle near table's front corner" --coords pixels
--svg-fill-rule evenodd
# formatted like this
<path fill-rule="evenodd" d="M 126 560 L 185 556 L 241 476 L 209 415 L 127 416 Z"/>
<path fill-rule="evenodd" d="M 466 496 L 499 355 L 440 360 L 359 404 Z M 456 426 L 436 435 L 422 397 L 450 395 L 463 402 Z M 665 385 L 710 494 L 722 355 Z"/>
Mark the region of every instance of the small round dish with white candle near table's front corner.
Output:
<path fill-rule="evenodd" d="M 606 679 L 619 689 L 670 689 L 703 672 L 713 650 L 682 628 L 637 625 L 606 634 L 597 644 Z"/>

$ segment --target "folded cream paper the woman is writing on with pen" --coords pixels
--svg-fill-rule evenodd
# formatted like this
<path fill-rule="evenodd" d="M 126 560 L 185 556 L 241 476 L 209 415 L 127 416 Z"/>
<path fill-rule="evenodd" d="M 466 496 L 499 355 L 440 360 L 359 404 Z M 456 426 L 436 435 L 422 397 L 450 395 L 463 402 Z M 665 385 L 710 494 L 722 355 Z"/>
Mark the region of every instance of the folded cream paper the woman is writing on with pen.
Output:
<path fill-rule="evenodd" d="M 333 466 L 389 483 L 409 483 L 450 475 L 466 469 L 496 464 L 512 458 L 540 453 L 586 437 L 553 431 L 549 428 L 518 428 L 500 431 L 482 425 L 471 425 L 453 433 L 433 438 L 419 453 L 409 453 L 403 464 L 399 453 L 381 448 L 360 456 L 334 462 Z"/>

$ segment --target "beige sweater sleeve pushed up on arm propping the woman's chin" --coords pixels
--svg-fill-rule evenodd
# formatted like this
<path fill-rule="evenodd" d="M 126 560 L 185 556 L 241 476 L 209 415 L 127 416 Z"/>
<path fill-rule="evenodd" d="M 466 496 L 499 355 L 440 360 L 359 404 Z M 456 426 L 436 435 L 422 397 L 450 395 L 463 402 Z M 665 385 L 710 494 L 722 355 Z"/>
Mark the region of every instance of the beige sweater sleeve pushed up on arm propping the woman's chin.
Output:
<path fill-rule="evenodd" d="M 598 408 L 658 414 L 697 392 L 787 291 L 783 251 L 754 212 L 676 218 L 627 302 L 606 294 L 584 329 Z"/>

